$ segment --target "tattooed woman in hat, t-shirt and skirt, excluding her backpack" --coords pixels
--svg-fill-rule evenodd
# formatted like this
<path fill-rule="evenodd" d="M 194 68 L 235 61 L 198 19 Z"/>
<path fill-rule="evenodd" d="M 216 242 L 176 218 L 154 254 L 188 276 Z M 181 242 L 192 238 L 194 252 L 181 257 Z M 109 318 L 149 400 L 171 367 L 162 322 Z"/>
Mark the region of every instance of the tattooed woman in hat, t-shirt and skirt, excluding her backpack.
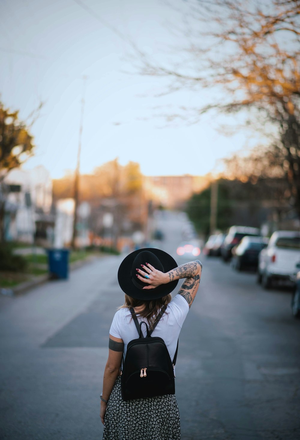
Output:
<path fill-rule="evenodd" d="M 166 306 L 152 336 L 163 338 L 173 359 L 181 326 L 194 301 L 202 270 L 199 260 L 176 266 L 176 261 L 166 252 L 148 248 L 130 253 L 119 267 L 118 281 L 125 293 L 125 304 L 116 312 L 109 331 L 100 411 L 104 424 L 103 440 L 180 440 L 175 395 L 123 401 L 120 378 L 122 356 L 125 359 L 128 343 L 138 338 L 129 308 L 134 308 L 138 323 L 145 321 L 151 328 L 161 308 Z M 170 292 L 181 278 L 185 281 L 172 299 Z"/>

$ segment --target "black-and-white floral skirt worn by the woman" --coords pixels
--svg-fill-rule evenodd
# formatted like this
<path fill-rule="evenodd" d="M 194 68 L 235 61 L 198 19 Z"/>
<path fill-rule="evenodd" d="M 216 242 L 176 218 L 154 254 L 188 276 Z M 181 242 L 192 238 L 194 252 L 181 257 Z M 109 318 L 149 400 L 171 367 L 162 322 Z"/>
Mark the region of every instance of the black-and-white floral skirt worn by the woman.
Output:
<path fill-rule="evenodd" d="M 127 400 L 121 377 L 112 389 L 105 413 L 103 440 L 180 440 L 180 419 L 173 394 Z"/>

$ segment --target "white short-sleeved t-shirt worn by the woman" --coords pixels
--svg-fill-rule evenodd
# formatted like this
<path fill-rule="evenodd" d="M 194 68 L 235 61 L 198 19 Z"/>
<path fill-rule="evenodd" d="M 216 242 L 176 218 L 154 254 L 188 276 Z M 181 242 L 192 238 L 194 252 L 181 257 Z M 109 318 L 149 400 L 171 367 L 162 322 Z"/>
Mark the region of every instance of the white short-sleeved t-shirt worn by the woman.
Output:
<path fill-rule="evenodd" d="M 164 340 L 172 361 L 176 352 L 178 336 L 188 311 L 187 301 L 184 297 L 177 294 L 167 305 L 166 312 L 168 315 L 164 314 L 159 319 L 159 323 L 151 335 L 159 336 Z M 134 320 L 131 318 L 130 310 L 128 308 L 121 308 L 116 312 L 109 330 L 109 334 L 112 336 L 123 339 L 124 356 L 126 355 L 128 343 L 139 337 Z M 137 315 L 137 320 L 139 323 L 145 321 L 148 324 L 147 319 L 141 318 L 139 315 Z M 142 332 L 146 337 L 147 330 L 145 325 L 142 326 Z"/>

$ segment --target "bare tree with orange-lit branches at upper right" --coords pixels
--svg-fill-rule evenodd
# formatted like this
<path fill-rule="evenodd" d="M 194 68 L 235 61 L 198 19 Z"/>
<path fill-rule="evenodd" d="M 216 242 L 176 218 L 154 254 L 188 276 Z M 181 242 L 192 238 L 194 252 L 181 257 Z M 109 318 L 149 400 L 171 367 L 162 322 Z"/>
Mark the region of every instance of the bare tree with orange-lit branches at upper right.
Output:
<path fill-rule="evenodd" d="M 300 0 L 188 4 L 196 26 L 185 33 L 184 62 L 161 65 L 141 54 L 141 73 L 170 77 L 170 91 L 212 88 L 211 103 L 199 105 L 198 115 L 247 109 L 256 117 L 254 129 L 271 121 L 300 217 Z"/>

